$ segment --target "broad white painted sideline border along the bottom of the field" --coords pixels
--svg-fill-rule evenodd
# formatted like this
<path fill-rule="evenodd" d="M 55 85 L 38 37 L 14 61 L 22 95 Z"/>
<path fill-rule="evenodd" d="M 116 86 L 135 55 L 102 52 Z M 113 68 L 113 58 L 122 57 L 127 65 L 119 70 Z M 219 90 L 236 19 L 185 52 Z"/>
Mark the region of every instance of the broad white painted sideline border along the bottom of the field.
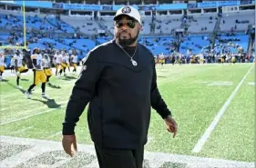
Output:
<path fill-rule="evenodd" d="M 9 143 L 12 145 L 29 145 L 33 146 L 32 148 L 21 151 L 20 153 L 10 153 L 10 156 L 2 160 L 0 164 L 3 167 L 15 167 L 20 163 L 26 163 L 32 158 L 40 157 L 41 154 L 46 155 L 46 153 L 59 151 L 64 153 L 61 142 L 46 141 L 46 140 L 37 140 L 37 139 L 28 139 L 28 138 L 18 138 L 10 136 L 0 136 L 0 143 Z M 5 147 L 5 145 L 4 145 Z M 87 153 L 94 155 L 96 157 L 95 148 L 93 145 L 81 144 L 78 143 L 78 152 L 77 154 Z M 62 154 L 60 153 L 60 154 Z M 49 154 L 47 154 L 49 155 Z M 52 157 L 49 155 L 49 157 Z M 75 155 L 76 157 L 76 155 Z M 65 158 L 64 158 L 65 159 Z M 53 167 L 61 167 L 63 163 L 70 161 L 70 157 L 66 157 L 66 161 L 62 160 L 55 163 Z M 87 159 L 87 158 L 84 158 Z M 224 159 L 213 159 L 213 158 L 204 158 L 198 156 L 190 155 L 179 155 L 173 153 L 149 153 L 145 152 L 145 159 L 148 160 L 149 167 L 160 167 L 163 163 L 184 163 L 186 168 L 200 168 L 200 167 L 232 167 L 232 168 L 252 168 L 254 167 L 254 162 L 239 162 L 239 161 L 230 161 Z M 45 165 L 49 164 L 44 160 Z M 42 164 L 40 162 L 40 164 Z M 97 160 L 93 160 L 91 163 L 84 165 L 83 168 L 87 167 L 98 167 Z"/>

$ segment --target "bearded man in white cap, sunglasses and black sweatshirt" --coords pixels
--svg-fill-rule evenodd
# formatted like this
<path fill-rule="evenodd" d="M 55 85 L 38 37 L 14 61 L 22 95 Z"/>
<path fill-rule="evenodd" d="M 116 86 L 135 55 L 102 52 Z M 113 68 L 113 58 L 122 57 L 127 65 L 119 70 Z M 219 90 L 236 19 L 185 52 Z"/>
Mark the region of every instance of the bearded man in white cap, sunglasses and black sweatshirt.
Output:
<path fill-rule="evenodd" d="M 67 104 L 63 147 L 77 150 L 75 125 L 88 103 L 88 126 L 100 168 L 142 168 L 150 106 L 177 133 L 177 124 L 162 100 L 154 56 L 138 44 L 138 10 L 125 6 L 115 18 L 115 39 L 93 49 Z"/>

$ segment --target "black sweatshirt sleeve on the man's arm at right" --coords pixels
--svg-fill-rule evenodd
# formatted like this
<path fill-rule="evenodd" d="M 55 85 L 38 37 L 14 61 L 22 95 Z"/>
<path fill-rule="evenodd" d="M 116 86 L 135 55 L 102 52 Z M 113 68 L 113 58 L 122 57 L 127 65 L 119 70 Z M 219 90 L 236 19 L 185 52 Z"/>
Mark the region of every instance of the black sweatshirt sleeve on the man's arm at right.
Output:
<path fill-rule="evenodd" d="M 153 109 L 157 111 L 157 113 L 163 119 L 165 119 L 168 115 L 171 115 L 171 112 L 169 111 L 167 104 L 164 102 L 164 100 L 162 99 L 159 93 L 155 64 L 153 66 L 153 78 L 152 78 L 152 84 L 151 84 L 151 106 Z"/>

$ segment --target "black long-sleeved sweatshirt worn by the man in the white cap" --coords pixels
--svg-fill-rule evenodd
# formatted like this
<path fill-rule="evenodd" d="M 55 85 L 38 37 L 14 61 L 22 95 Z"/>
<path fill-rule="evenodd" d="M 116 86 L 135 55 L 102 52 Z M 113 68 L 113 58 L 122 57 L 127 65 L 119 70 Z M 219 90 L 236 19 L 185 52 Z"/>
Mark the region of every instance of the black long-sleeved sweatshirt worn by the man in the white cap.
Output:
<path fill-rule="evenodd" d="M 153 54 L 137 44 L 133 59 L 136 66 L 114 40 L 87 54 L 67 104 L 64 135 L 75 134 L 89 103 L 87 122 L 97 146 L 137 149 L 147 143 L 150 108 L 162 118 L 171 113 L 159 94 Z"/>

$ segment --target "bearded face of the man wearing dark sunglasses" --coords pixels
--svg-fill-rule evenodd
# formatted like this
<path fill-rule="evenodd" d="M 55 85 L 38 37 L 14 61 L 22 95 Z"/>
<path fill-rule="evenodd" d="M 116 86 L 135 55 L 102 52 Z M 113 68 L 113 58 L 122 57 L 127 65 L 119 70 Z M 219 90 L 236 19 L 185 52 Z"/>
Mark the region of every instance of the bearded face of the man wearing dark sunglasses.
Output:
<path fill-rule="evenodd" d="M 123 15 L 115 21 L 115 36 L 123 47 L 133 44 L 141 28 L 138 21 Z"/>

